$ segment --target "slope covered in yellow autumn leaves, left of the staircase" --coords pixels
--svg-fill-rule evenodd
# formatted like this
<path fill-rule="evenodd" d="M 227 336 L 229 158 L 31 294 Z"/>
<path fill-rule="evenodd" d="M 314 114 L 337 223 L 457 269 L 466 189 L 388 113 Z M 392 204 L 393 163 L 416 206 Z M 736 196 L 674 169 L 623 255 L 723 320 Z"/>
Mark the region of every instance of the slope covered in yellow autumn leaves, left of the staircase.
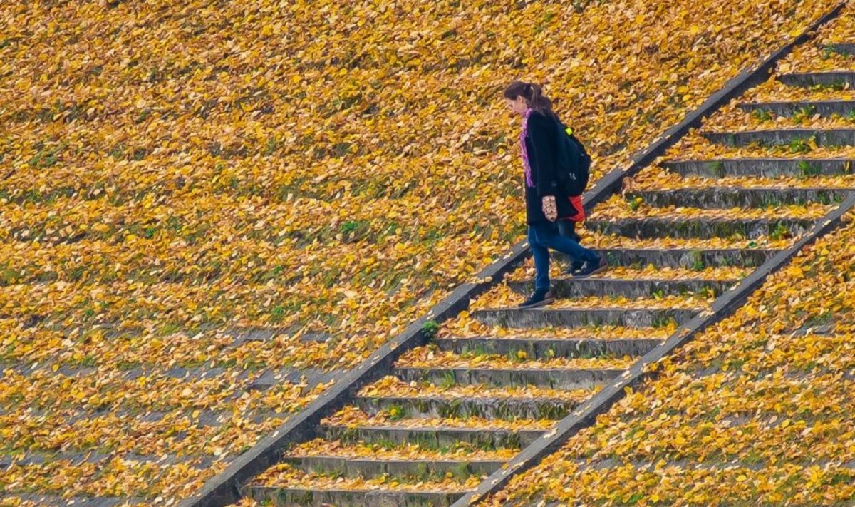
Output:
<path fill-rule="evenodd" d="M 597 176 L 828 9 L 458 4 L 3 3 L 3 504 L 174 503 L 495 259 L 511 77 Z"/>

